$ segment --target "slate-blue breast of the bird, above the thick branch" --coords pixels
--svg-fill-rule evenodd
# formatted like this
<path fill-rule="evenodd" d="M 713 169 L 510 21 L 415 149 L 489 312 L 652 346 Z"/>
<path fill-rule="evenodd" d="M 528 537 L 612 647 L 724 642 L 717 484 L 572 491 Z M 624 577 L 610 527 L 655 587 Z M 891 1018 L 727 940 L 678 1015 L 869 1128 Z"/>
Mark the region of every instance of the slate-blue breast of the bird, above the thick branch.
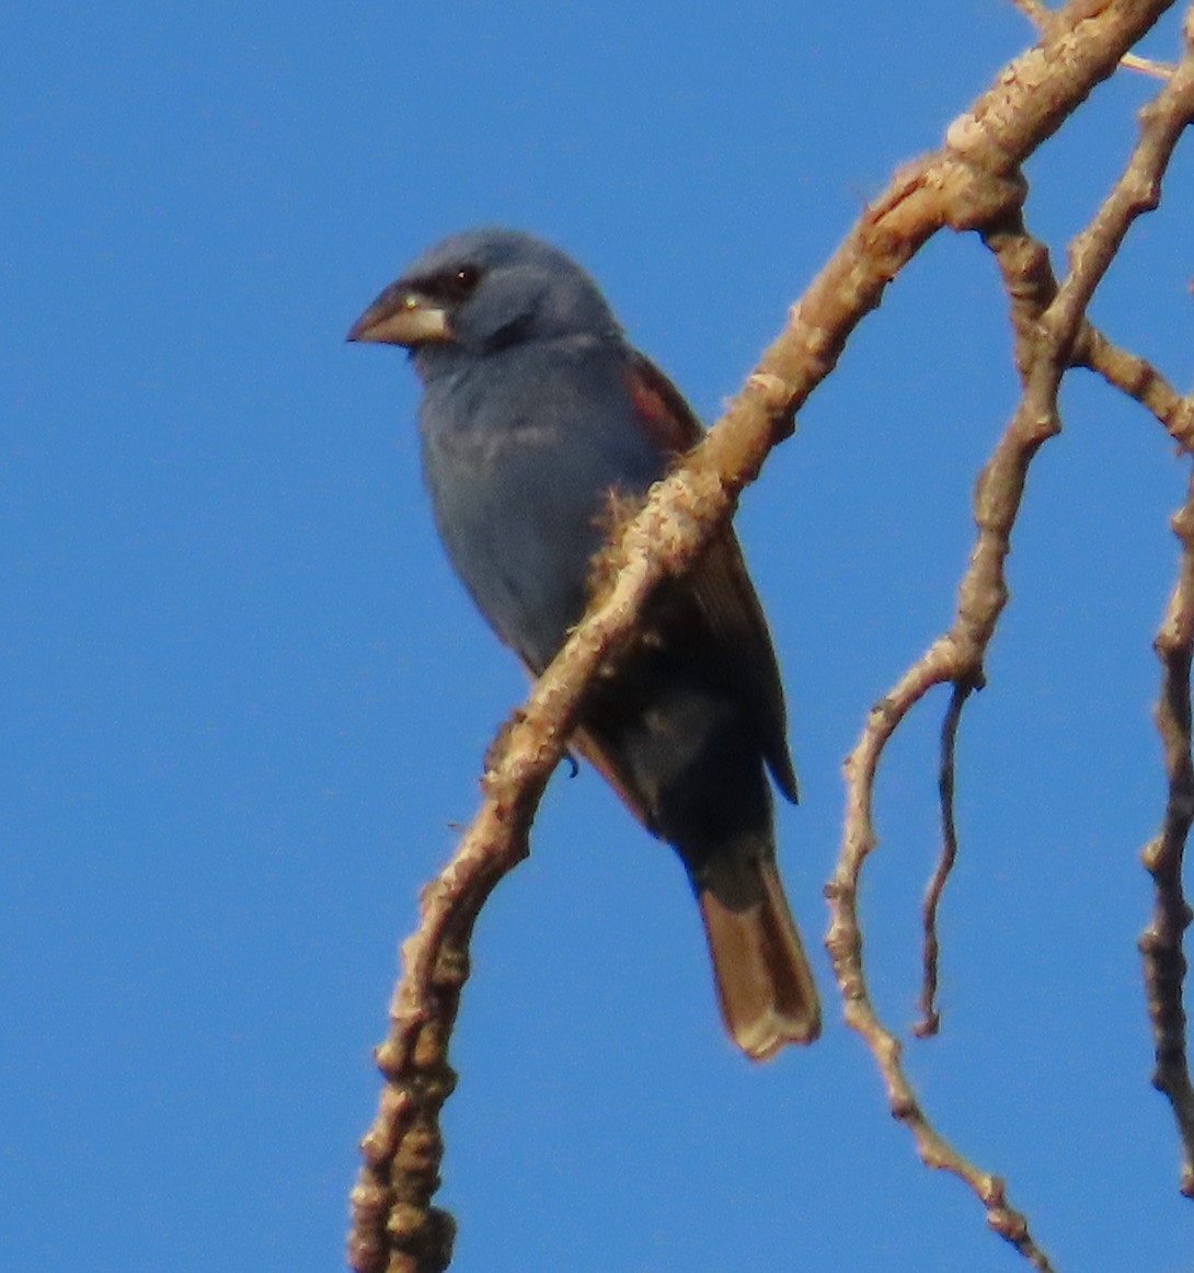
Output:
<path fill-rule="evenodd" d="M 424 475 L 452 564 L 536 671 L 584 611 L 611 491 L 639 495 L 663 468 L 612 395 L 615 377 L 580 370 L 491 364 L 428 386 L 420 414 Z"/>

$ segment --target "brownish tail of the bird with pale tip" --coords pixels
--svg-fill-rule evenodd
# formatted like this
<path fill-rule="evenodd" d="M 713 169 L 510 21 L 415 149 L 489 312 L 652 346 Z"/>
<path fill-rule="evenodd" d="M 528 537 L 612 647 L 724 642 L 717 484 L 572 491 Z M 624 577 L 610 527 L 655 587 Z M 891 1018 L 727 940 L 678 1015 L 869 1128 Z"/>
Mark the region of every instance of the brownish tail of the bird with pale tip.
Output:
<path fill-rule="evenodd" d="M 821 1008 L 770 855 L 720 854 L 696 881 L 722 1018 L 751 1060 L 766 1060 L 787 1043 L 812 1043 Z"/>

